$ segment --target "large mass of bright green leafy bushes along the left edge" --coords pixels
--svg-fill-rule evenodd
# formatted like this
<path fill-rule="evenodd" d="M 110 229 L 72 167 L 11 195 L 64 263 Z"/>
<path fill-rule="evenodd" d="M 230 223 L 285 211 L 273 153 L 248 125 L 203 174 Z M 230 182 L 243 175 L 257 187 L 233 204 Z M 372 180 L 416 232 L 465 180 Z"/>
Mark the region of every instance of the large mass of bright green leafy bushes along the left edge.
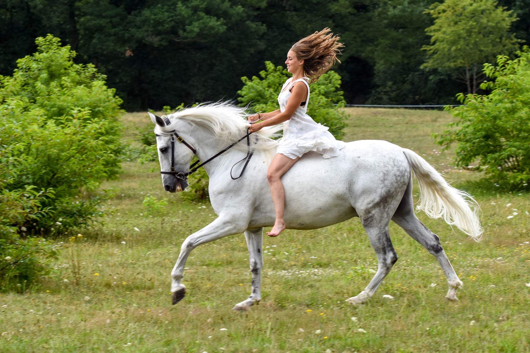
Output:
<path fill-rule="evenodd" d="M 101 181 L 119 170 L 121 100 L 92 65 L 48 35 L 0 77 L 0 282 L 28 284 L 55 250 L 44 240 L 97 221 Z M 21 284 L 19 283 L 19 284 Z"/>

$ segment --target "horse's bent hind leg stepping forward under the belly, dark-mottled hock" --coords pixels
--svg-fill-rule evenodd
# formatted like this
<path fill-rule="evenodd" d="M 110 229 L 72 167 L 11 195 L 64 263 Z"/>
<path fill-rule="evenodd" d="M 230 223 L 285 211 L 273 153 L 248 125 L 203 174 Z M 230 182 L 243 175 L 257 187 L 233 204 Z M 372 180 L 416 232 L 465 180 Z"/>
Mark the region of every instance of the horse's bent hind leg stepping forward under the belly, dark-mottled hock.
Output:
<path fill-rule="evenodd" d="M 381 218 L 379 219 L 383 220 L 383 212 L 381 212 L 380 216 Z M 364 291 L 347 300 L 347 302 L 351 304 L 364 303 L 372 295 L 374 295 L 377 287 L 379 287 L 381 282 L 383 282 L 383 279 L 390 272 L 390 269 L 394 263 L 398 260 L 398 256 L 394 251 L 392 241 L 388 235 L 388 220 L 384 221 L 385 224 L 381 224 L 377 221 L 377 218 L 374 214 L 369 214 L 364 217 L 361 216 L 361 222 L 368 233 L 370 243 L 372 244 L 375 254 L 377 255 L 378 266 L 374 278 L 370 280 L 370 283 L 366 286 Z"/>

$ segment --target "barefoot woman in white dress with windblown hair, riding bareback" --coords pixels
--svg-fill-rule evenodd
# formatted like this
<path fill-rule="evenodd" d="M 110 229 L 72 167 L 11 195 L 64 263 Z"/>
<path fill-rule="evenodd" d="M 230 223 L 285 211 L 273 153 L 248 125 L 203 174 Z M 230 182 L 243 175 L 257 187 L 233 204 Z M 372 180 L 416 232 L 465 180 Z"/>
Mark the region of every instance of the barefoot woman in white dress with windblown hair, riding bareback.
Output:
<path fill-rule="evenodd" d="M 340 62 L 337 55 L 343 45 L 339 43 L 339 39 L 329 28 L 325 28 L 296 42 L 287 53 L 285 61 L 287 71 L 293 77 L 285 82 L 278 96 L 280 108 L 249 117 L 250 122 L 262 120 L 252 124 L 250 132 L 284 123 L 284 137 L 267 171 L 276 212 L 274 227 L 267 232 L 270 237 L 277 237 L 285 229 L 285 192 L 280 177 L 306 152 L 315 151 L 324 158 L 330 158 L 338 156 L 339 150 L 346 146 L 345 142 L 335 140 L 327 126 L 317 124 L 306 114 L 310 97 L 308 81 L 315 82 L 335 61 Z"/>

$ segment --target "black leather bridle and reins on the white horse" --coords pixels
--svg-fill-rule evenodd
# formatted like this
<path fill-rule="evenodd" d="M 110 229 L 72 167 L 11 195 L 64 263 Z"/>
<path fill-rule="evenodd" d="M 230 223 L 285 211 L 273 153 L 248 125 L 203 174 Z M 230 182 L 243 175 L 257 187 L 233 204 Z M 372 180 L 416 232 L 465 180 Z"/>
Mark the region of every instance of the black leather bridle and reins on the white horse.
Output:
<path fill-rule="evenodd" d="M 164 122 L 166 123 L 166 125 L 168 125 L 170 123 L 170 120 L 167 117 L 165 117 Z M 169 133 L 171 134 L 171 168 L 170 168 L 170 171 L 160 171 L 160 174 L 169 174 L 169 175 L 174 176 L 177 179 L 184 180 L 185 182 L 188 182 L 188 175 L 190 175 L 193 172 L 197 171 L 197 169 L 199 169 L 200 167 L 204 166 L 209 161 L 213 160 L 214 158 L 218 157 L 219 155 L 222 155 L 224 152 L 226 152 L 227 150 L 231 149 L 237 143 L 241 142 L 245 138 L 246 138 L 246 146 L 247 146 L 246 156 L 242 160 L 236 162 L 236 164 L 234 164 L 232 166 L 232 168 L 230 169 L 230 177 L 233 180 L 239 179 L 239 178 L 241 178 L 243 176 L 243 173 L 244 173 L 244 171 L 246 169 L 246 166 L 249 164 L 249 161 L 252 158 L 252 155 L 254 154 L 254 151 L 252 151 L 252 152 L 250 151 L 250 134 L 252 132 L 249 132 L 249 129 L 246 129 L 246 135 L 244 135 L 241 139 L 239 139 L 239 140 L 235 141 L 234 143 L 232 143 L 230 146 L 228 146 L 224 150 L 217 152 L 214 156 L 208 158 L 206 161 L 204 161 L 204 162 L 202 162 L 200 164 L 199 164 L 200 160 L 197 160 L 197 161 L 193 162 L 193 164 L 190 166 L 190 170 L 188 171 L 188 173 L 182 173 L 182 172 L 176 173 L 176 171 L 175 171 L 175 140 L 179 141 L 181 143 L 184 143 L 184 145 L 186 147 L 188 147 L 193 152 L 193 154 L 196 155 L 196 156 L 197 156 L 197 150 L 195 148 L 191 147 L 188 142 L 184 141 L 184 139 L 182 139 L 179 136 L 179 134 L 176 133 L 175 130 L 169 131 Z M 160 135 L 156 135 L 156 136 L 160 136 Z M 239 162 L 242 162 L 245 159 L 246 159 L 246 162 L 245 162 L 245 165 L 243 166 L 243 169 L 241 170 L 241 174 L 237 178 L 234 178 L 232 176 L 232 169 L 234 169 L 234 167 Z M 199 164 L 199 165 L 197 165 L 197 164 Z"/>

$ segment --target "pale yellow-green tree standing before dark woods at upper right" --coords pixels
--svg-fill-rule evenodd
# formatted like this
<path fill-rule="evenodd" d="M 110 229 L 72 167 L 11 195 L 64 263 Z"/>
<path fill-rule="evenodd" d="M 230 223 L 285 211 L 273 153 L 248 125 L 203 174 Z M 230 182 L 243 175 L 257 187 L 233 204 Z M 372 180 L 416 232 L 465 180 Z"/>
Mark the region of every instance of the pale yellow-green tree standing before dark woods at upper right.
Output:
<path fill-rule="evenodd" d="M 425 30 L 431 40 L 422 48 L 429 58 L 421 67 L 453 73 L 467 93 L 476 93 L 484 62 L 517 48 L 519 40 L 509 32 L 517 17 L 496 0 L 446 0 L 426 12 L 435 22 Z"/>

